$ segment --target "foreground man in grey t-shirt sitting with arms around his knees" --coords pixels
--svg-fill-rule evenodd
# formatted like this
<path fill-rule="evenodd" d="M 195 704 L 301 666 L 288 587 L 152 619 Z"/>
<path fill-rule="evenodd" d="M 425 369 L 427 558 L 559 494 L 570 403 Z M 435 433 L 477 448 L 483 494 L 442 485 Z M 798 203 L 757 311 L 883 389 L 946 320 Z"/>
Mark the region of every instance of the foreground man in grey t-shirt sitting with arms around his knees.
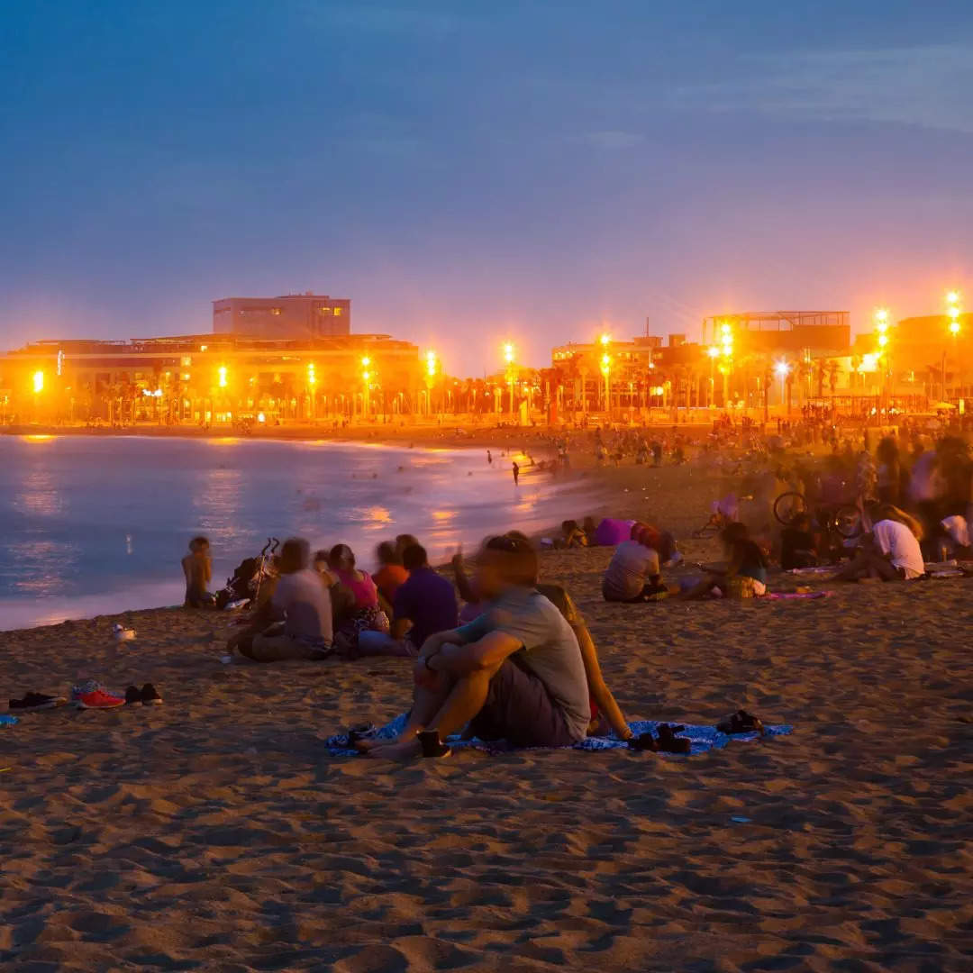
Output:
<path fill-rule="evenodd" d="M 591 707 L 578 640 L 535 589 L 537 555 L 514 537 L 493 537 L 480 556 L 482 620 L 427 639 L 414 668 L 406 728 L 389 743 L 363 744 L 377 757 L 411 760 L 418 734 L 446 739 L 469 724 L 480 739 L 517 746 L 569 746 L 588 733 Z"/>

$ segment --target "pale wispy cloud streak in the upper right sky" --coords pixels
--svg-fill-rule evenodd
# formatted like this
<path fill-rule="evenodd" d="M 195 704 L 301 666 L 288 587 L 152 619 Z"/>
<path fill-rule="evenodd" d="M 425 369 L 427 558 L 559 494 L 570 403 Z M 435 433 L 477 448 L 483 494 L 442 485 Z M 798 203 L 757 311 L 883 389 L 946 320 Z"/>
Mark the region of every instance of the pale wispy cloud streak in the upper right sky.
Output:
<path fill-rule="evenodd" d="M 749 76 L 740 77 L 749 67 Z M 973 44 L 758 55 L 726 81 L 683 86 L 674 100 L 777 121 L 873 122 L 973 133 Z"/>

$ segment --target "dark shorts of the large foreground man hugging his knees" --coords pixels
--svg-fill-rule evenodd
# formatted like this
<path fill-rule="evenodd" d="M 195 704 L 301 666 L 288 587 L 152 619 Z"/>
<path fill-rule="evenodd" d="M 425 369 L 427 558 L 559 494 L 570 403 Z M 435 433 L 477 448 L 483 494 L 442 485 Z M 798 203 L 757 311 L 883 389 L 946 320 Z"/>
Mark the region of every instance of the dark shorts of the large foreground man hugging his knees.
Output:
<path fill-rule="evenodd" d="M 470 729 L 480 739 L 505 739 L 515 746 L 571 746 L 578 741 L 544 683 L 511 659 L 493 673 L 486 703 Z"/>

